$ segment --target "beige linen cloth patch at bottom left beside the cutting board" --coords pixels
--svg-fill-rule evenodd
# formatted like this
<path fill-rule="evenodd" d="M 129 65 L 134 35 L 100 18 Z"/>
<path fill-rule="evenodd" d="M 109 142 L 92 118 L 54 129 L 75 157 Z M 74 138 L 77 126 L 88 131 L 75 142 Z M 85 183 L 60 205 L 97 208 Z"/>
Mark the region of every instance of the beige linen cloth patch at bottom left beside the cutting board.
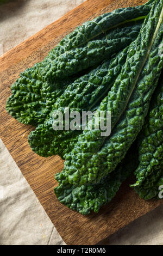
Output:
<path fill-rule="evenodd" d="M 65 245 L 1 139 L 0 245 Z"/>

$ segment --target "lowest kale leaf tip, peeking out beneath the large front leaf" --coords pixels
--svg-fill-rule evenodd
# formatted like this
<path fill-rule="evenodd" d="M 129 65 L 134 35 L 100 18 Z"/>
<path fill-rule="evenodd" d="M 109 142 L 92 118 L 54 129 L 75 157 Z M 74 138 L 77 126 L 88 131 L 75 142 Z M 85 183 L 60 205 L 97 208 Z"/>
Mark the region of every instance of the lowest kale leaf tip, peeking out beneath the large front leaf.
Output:
<path fill-rule="evenodd" d="M 118 164 L 115 172 L 105 177 L 100 184 L 75 187 L 67 181 L 64 173 L 58 173 L 55 178 L 61 183 L 54 189 L 54 192 L 62 204 L 80 214 L 90 214 L 91 210 L 98 212 L 102 205 L 109 203 L 115 197 L 122 182 L 130 176 L 136 165 L 134 143 L 121 164 Z"/>

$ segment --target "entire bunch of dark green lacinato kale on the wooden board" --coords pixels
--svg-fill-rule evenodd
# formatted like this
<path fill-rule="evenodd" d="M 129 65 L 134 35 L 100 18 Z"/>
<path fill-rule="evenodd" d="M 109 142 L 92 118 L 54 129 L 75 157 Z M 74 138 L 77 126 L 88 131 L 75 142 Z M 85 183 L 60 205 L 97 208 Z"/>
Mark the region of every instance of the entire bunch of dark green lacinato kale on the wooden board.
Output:
<path fill-rule="evenodd" d="M 60 155 L 61 203 L 86 215 L 110 202 L 131 173 L 144 199 L 163 185 L 163 0 L 117 9 L 77 27 L 12 84 L 6 109 L 36 127 L 32 150 Z M 101 129 L 54 130 L 54 111 L 111 112 Z M 91 120 L 95 125 L 95 118 Z M 65 125 L 65 124 L 64 124 Z M 82 128 L 82 127 L 81 127 Z"/>

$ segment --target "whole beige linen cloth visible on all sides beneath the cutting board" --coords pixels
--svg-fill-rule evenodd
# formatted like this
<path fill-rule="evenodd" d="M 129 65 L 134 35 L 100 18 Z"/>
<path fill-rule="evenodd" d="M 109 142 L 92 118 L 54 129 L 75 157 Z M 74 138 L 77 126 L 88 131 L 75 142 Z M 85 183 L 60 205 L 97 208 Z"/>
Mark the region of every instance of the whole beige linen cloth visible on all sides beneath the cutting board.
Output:
<path fill-rule="evenodd" d="M 83 2 L 15 0 L 0 5 L 0 56 Z M 0 245 L 29 244 L 65 243 L 0 140 Z M 100 244 L 163 245 L 163 205 Z"/>

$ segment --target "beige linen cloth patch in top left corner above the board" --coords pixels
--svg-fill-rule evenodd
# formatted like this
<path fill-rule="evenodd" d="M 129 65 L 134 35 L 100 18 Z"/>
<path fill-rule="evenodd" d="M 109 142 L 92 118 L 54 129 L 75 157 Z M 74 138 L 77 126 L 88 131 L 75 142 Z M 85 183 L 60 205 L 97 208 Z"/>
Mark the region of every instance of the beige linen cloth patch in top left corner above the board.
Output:
<path fill-rule="evenodd" d="M 0 56 L 84 0 L 8 0 L 0 5 Z"/>

